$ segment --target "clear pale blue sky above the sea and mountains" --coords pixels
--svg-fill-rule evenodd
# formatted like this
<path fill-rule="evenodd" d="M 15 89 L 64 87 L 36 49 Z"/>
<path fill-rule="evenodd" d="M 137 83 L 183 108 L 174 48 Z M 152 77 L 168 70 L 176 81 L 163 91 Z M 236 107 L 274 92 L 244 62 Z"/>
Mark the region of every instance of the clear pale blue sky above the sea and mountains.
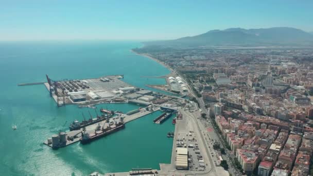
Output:
<path fill-rule="evenodd" d="M 213 29 L 313 31 L 311 0 L 0 0 L 0 41 L 168 40 Z"/>

